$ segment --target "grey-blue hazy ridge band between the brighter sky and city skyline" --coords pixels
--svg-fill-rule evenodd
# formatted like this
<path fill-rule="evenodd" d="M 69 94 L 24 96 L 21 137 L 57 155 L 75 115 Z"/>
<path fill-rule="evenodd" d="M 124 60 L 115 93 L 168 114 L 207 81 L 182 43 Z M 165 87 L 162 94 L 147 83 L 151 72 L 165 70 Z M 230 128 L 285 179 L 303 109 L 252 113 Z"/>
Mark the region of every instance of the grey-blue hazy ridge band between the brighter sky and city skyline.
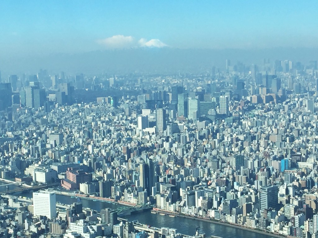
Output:
<path fill-rule="evenodd" d="M 292 60 L 307 64 L 316 60 L 318 48 L 273 49 L 177 49 L 170 47 L 141 47 L 125 50 L 103 50 L 83 53 L 56 53 L 43 56 L 1 58 L 0 69 L 8 74 L 20 72 L 65 71 L 66 73 L 115 73 L 133 72 L 178 73 L 211 71 L 212 66 L 225 68 L 225 60 L 232 65 L 238 61 L 250 65 L 262 64 L 263 59 Z"/>

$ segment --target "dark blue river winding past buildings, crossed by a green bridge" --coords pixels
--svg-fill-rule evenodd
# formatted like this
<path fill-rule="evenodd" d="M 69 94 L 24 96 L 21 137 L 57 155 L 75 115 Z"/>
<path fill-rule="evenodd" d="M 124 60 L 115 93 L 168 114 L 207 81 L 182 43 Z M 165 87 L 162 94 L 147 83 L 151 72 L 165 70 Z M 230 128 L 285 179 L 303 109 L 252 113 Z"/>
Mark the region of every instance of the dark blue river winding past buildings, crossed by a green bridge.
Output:
<path fill-rule="evenodd" d="M 1 187 L 0 187 L 1 188 Z M 5 186 L 4 186 L 5 188 Z M 5 190 L 5 189 L 4 189 Z M 32 197 L 31 192 L 16 194 L 18 196 Z M 72 204 L 77 201 L 77 198 L 72 198 L 65 195 L 56 195 L 56 201 L 64 204 Z M 99 211 L 102 208 L 116 209 L 123 205 L 113 204 L 110 202 L 93 201 L 88 199 L 82 199 L 84 208 L 91 208 Z M 177 228 L 178 232 L 185 235 L 194 235 L 195 228 L 200 226 L 207 236 L 215 235 L 223 238 L 273 238 L 270 235 L 263 235 L 254 233 L 252 231 L 242 230 L 239 228 L 228 227 L 221 224 L 214 224 L 207 221 L 197 221 L 190 218 L 182 217 L 169 217 L 168 215 L 152 214 L 149 211 L 144 213 L 138 213 L 135 215 L 124 216 L 122 218 L 128 219 L 129 221 L 138 220 L 140 223 L 147 224 L 154 227 L 169 227 Z"/>

